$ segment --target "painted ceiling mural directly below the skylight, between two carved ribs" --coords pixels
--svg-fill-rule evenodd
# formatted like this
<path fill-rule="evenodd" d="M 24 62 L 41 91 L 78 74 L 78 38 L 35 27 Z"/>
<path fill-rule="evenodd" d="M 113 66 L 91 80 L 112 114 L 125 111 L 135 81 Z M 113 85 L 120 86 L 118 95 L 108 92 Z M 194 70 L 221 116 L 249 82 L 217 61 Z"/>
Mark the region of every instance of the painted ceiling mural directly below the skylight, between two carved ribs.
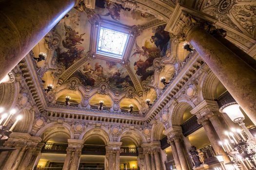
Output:
<path fill-rule="evenodd" d="M 105 82 L 113 91 L 124 91 L 133 82 L 125 67 L 120 63 L 103 59 L 94 59 L 83 64 L 71 77 L 79 78 L 84 86 L 99 86 Z"/>

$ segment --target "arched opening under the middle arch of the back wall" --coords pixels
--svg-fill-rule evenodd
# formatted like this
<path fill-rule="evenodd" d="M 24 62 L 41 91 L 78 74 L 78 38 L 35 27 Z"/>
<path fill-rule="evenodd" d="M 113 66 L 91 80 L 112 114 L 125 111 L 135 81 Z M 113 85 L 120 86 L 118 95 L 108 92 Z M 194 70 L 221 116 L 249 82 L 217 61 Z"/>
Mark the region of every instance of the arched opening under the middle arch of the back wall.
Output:
<path fill-rule="evenodd" d="M 91 135 L 84 141 L 79 168 L 104 169 L 106 143 L 101 136 Z"/>

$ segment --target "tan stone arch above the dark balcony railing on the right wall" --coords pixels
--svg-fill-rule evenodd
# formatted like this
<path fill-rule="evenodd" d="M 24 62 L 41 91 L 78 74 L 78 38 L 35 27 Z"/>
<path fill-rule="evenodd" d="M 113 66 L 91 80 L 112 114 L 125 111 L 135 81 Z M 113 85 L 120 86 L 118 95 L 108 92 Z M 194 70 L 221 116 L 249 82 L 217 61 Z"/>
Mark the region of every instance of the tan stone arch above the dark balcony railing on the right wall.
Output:
<path fill-rule="evenodd" d="M 180 125 L 183 120 L 183 113 L 185 110 L 187 110 L 189 107 L 195 108 L 195 104 L 191 101 L 187 101 L 185 99 L 178 100 L 177 105 L 174 107 L 171 107 L 170 110 L 170 122 L 171 125 Z"/>

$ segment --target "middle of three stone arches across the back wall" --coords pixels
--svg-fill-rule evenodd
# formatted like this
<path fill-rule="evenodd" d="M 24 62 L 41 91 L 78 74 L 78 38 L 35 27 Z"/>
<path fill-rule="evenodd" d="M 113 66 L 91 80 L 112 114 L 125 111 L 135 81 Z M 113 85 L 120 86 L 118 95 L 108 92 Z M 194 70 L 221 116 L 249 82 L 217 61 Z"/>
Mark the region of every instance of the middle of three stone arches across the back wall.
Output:
<path fill-rule="evenodd" d="M 105 145 L 108 144 L 109 141 L 113 141 L 113 137 L 108 133 L 109 131 L 105 127 L 87 127 L 84 132 L 79 136 L 80 140 L 85 140 L 90 136 L 98 136 L 100 137 Z"/>

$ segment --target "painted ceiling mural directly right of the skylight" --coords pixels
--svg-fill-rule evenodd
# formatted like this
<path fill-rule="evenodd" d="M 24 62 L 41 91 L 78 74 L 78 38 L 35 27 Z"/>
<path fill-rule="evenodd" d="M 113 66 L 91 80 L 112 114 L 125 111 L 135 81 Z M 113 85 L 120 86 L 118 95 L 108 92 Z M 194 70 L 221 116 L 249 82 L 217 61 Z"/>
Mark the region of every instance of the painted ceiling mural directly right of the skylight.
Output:
<path fill-rule="evenodd" d="M 170 35 L 165 25 L 144 30 L 134 45 L 129 58 L 131 67 L 140 81 L 149 81 L 154 75 L 154 59 L 163 57 L 170 48 Z"/>

